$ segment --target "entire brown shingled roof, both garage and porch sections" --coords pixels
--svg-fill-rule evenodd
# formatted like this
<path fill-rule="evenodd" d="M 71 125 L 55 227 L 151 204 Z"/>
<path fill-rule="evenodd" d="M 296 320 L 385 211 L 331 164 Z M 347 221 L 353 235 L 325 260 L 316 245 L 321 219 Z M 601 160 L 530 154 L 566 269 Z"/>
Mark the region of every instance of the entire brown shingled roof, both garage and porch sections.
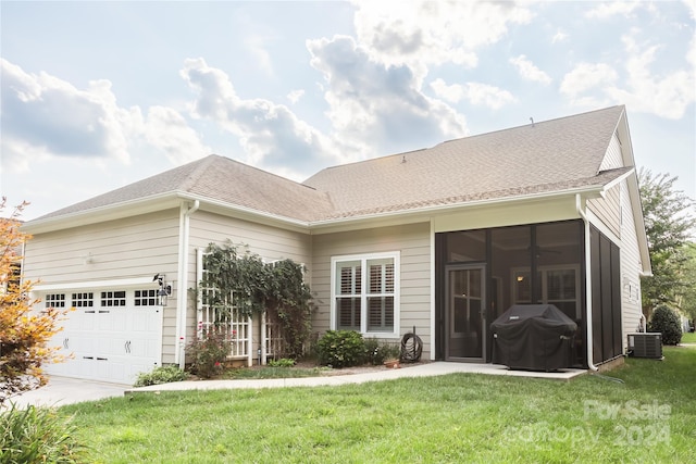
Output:
<path fill-rule="evenodd" d="M 213 154 L 36 221 L 169 192 L 311 223 L 604 186 L 631 168 L 600 172 L 624 111 L 612 106 L 330 167 L 303 184 Z"/>

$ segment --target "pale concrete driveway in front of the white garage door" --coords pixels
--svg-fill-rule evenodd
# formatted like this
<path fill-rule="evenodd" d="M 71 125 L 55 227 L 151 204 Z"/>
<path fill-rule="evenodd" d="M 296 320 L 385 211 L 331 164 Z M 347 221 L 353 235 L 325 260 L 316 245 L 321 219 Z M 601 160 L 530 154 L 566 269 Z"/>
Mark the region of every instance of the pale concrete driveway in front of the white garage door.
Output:
<path fill-rule="evenodd" d="M 25 391 L 18 397 L 11 398 L 10 401 L 18 407 L 25 407 L 28 404 L 62 406 L 83 401 L 101 400 L 102 398 L 123 397 L 123 392 L 129 388 L 132 388 L 129 385 L 51 376 L 48 385 L 37 390 Z"/>

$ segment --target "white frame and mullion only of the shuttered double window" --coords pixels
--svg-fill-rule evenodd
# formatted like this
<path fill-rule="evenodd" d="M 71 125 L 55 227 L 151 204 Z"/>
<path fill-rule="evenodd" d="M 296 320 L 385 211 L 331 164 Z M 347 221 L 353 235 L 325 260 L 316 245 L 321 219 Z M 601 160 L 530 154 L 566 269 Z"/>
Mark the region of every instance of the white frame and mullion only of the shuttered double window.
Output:
<path fill-rule="evenodd" d="M 371 260 L 394 260 L 394 330 L 393 331 L 368 331 L 368 297 L 369 292 L 369 269 L 368 261 Z M 401 313 L 401 253 L 399 251 L 388 251 L 382 253 L 345 254 L 331 258 L 331 322 L 330 327 L 336 330 L 336 297 L 337 297 L 337 273 L 336 267 L 346 261 L 360 261 L 360 333 L 363 336 L 374 338 L 399 338 L 400 313 Z M 378 293 L 383 294 L 383 293 Z"/>

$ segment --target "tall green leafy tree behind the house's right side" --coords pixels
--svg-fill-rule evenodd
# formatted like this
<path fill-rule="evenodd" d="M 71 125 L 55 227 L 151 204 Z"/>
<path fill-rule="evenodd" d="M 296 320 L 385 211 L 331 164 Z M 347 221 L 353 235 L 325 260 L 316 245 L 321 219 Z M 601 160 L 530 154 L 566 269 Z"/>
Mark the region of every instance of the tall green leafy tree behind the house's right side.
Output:
<path fill-rule="evenodd" d="M 688 290 L 685 278 L 692 258 L 685 253 L 689 235 L 694 231 L 694 200 L 674 189 L 678 177 L 652 175 L 641 170 L 638 183 L 645 231 L 648 239 L 652 277 L 642 281 L 643 312 L 649 314 L 658 304 L 680 308 L 680 296 Z"/>

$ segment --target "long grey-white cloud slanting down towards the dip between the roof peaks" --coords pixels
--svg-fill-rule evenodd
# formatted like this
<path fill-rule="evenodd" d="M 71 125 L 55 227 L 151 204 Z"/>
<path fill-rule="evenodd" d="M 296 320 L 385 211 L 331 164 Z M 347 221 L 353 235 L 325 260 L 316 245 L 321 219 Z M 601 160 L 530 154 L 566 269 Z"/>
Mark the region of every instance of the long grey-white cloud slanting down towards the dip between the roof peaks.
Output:
<path fill-rule="evenodd" d="M 203 59 L 186 60 L 181 75 L 198 93 L 191 115 L 212 120 L 237 136 L 247 163 L 270 170 L 293 166 L 288 175 L 300 179 L 332 161 L 327 137 L 285 105 L 239 98 L 227 74 Z"/>

